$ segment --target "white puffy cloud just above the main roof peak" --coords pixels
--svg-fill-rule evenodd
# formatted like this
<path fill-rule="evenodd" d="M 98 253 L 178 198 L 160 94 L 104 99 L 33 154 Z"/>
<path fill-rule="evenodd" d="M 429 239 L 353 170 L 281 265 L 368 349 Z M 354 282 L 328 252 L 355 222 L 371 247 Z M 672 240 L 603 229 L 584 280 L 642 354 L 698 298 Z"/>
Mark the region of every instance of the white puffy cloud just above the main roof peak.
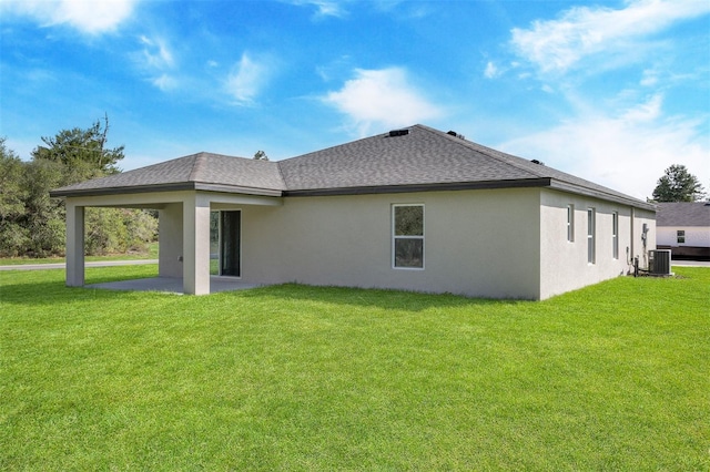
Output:
<path fill-rule="evenodd" d="M 396 127 L 438 117 L 443 111 L 408 83 L 406 71 L 357 69 L 337 92 L 323 100 L 349 117 L 361 135 L 373 125 Z"/>

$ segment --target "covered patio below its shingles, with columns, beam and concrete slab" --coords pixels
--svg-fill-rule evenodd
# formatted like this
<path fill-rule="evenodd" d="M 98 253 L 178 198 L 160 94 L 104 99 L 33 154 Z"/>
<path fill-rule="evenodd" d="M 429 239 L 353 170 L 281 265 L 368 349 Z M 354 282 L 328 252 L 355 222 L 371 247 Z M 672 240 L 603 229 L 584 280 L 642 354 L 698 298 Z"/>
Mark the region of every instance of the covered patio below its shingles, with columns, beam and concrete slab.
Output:
<path fill-rule="evenodd" d="M 93 195 L 67 198 L 67 285 L 84 286 L 84 208 L 124 207 L 156 209 L 159 213 L 159 277 L 145 281 L 145 289 L 191 295 L 246 288 L 240 283 L 240 224 L 226 226 L 220 245 L 215 247 L 211 235 L 211 214 L 241 215 L 247 205 L 281 205 L 281 198 L 215 192 L 183 191 L 140 194 Z M 234 219 L 234 218 L 232 218 Z M 229 244 L 227 244 L 229 243 Z M 229 250 L 229 254 L 226 253 Z M 230 271 L 215 277 L 211 261 L 229 257 Z M 224 259 L 226 260 L 226 259 Z M 221 267 L 221 266 L 220 266 Z M 141 283 L 126 280 L 105 288 L 143 289 Z M 250 285 L 254 287 L 255 285 Z"/>

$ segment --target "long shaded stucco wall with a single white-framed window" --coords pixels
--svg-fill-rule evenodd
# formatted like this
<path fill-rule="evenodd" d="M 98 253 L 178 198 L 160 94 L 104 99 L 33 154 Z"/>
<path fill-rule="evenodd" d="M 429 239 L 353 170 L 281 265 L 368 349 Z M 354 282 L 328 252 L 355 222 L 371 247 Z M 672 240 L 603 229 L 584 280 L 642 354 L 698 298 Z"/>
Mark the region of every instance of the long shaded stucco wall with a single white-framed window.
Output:
<path fill-rule="evenodd" d="M 539 297 L 539 189 L 284 198 L 242 208 L 242 279 Z M 425 205 L 425 268 L 392 265 L 392 206 Z"/>

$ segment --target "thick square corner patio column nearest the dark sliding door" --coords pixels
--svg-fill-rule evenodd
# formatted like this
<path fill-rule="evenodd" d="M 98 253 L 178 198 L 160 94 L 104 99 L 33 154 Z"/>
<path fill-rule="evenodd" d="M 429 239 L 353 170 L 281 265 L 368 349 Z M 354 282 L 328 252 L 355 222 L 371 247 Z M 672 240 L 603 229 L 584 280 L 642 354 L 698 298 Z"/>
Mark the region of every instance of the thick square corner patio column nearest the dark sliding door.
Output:
<path fill-rule="evenodd" d="M 183 291 L 210 294 L 210 199 L 197 193 L 183 201 Z"/>

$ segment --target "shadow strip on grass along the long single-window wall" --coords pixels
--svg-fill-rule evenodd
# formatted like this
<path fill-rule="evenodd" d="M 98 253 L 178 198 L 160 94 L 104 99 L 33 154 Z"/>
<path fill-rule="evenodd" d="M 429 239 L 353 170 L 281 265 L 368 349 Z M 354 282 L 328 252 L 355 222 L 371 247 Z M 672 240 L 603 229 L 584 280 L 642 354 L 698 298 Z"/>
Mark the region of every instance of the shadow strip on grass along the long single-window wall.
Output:
<path fill-rule="evenodd" d="M 225 293 L 223 296 L 234 296 Z M 278 301 L 308 301 L 356 307 L 374 307 L 379 309 L 423 311 L 427 309 L 465 308 L 475 306 L 514 306 L 532 304 L 527 300 L 498 300 L 488 298 L 467 298 L 452 294 L 424 294 L 417 291 L 323 287 L 302 284 L 283 284 L 240 291 L 240 298 L 272 299 Z"/>

